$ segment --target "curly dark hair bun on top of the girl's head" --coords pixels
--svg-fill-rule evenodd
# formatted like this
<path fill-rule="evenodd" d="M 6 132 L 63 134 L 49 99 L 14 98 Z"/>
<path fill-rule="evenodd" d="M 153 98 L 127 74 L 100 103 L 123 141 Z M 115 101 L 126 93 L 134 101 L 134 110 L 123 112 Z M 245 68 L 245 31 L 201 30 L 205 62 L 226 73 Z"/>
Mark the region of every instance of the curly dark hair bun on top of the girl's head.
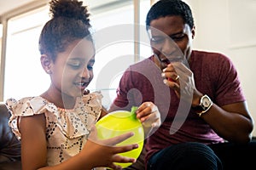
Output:
<path fill-rule="evenodd" d="M 90 26 L 90 14 L 87 6 L 83 6 L 78 0 L 51 0 L 49 2 L 49 12 L 52 18 L 67 17 L 75 20 L 82 20 L 84 24 Z"/>

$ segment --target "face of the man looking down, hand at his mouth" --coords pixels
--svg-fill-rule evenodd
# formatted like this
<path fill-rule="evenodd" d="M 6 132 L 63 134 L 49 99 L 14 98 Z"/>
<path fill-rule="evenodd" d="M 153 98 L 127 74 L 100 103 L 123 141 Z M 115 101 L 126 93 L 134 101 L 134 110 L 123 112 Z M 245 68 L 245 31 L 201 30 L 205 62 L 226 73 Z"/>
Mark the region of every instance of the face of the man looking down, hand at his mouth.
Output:
<path fill-rule="evenodd" d="M 195 30 L 193 28 L 191 31 L 189 26 L 184 24 L 182 17 L 160 17 L 152 20 L 150 26 L 148 34 L 151 47 L 161 69 L 172 61 L 189 59 Z"/>

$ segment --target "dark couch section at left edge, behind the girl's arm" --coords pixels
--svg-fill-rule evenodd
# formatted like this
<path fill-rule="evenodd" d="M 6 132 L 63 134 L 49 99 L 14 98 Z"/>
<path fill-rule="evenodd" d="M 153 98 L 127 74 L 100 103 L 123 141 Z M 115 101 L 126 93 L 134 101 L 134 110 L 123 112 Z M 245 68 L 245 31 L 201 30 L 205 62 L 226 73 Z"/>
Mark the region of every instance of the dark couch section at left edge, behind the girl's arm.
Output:
<path fill-rule="evenodd" d="M 0 103 L 0 170 L 20 170 L 20 141 L 9 127 L 10 113 Z"/>

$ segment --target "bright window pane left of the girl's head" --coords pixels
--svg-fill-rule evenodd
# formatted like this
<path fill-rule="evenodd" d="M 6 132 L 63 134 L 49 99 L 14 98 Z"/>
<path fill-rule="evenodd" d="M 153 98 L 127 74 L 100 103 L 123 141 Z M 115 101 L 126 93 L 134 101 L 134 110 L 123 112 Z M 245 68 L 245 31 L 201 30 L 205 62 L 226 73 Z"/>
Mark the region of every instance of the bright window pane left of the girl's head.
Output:
<path fill-rule="evenodd" d="M 4 100 L 42 94 L 49 87 L 38 50 L 39 34 L 47 20 L 48 9 L 38 8 L 8 21 Z"/>

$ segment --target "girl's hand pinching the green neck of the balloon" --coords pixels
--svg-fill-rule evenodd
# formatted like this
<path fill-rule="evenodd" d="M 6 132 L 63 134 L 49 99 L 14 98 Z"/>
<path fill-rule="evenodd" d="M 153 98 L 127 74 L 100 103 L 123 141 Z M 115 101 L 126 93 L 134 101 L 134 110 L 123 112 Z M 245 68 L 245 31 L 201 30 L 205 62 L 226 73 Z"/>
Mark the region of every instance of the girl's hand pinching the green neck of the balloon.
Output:
<path fill-rule="evenodd" d="M 153 128 L 160 127 L 160 112 L 152 102 L 144 102 L 136 111 L 137 118 L 143 123 L 146 136 Z"/>

